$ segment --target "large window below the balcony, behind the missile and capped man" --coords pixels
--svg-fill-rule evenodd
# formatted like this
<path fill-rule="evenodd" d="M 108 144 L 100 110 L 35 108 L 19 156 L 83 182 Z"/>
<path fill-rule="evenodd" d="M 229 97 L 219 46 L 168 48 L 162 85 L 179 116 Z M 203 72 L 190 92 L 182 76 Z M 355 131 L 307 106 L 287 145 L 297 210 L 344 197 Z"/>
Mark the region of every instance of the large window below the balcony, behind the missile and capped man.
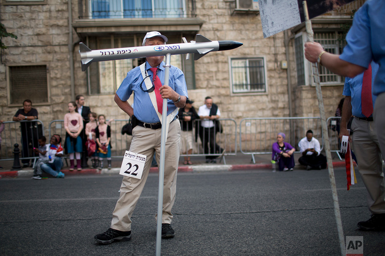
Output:
<path fill-rule="evenodd" d="M 129 37 L 89 37 L 91 50 L 142 46 L 142 35 Z M 167 43 L 179 43 L 176 38 L 168 37 Z M 183 55 L 185 57 L 185 55 Z M 171 65 L 180 68 L 185 75 L 187 89 L 195 88 L 195 74 L 193 58 L 185 60 L 181 55 L 171 55 Z M 121 85 L 127 72 L 144 63 L 145 58 L 120 59 L 114 61 L 100 61 L 92 63 L 87 69 L 89 94 L 112 94 Z"/>

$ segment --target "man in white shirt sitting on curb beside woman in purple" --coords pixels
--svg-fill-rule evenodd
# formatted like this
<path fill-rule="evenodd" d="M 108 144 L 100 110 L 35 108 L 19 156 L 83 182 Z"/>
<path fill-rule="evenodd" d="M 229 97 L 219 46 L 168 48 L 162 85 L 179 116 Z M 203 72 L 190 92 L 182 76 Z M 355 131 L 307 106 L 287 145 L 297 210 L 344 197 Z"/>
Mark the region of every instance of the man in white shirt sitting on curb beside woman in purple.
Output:
<path fill-rule="evenodd" d="M 298 159 L 306 170 L 321 170 L 326 168 L 326 157 L 321 154 L 320 142 L 313 137 L 313 131 L 308 130 L 306 137 L 298 143 L 302 156 Z"/>

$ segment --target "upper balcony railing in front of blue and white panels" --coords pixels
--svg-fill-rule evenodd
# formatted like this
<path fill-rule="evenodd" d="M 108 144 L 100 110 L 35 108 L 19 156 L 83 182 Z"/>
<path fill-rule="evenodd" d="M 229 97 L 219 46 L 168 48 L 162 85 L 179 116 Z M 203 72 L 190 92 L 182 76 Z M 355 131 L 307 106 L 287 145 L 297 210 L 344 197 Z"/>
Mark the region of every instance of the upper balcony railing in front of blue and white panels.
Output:
<path fill-rule="evenodd" d="M 195 0 L 79 0 L 80 19 L 194 17 Z"/>

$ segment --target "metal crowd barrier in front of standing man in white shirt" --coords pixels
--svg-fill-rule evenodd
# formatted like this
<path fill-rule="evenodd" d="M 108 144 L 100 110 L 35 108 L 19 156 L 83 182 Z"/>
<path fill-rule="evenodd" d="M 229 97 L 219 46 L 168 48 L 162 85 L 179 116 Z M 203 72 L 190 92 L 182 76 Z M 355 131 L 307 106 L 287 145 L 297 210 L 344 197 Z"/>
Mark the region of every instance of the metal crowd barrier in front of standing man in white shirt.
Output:
<path fill-rule="evenodd" d="M 187 152 L 185 154 L 182 154 L 183 152 L 181 152 L 181 156 L 220 156 L 223 163 L 226 164 L 225 156 L 236 155 L 237 152 L 237 124 L 234 119 L 221 118 L 217 119 L 220 126 L 214 125 L 209 129 L 202 126 L 202 124 L 205 125 L 205 122 L 207 121 L 209 120 L 194 120 L 194 127 L 190 131 L 184 131 L 186 127 L 183 127 L 184 122 L 181 122 L 182 133 L 186 132 L 187 136 L 192 137 L 193 146 L 191 155 L 188 155 Z M 207 144 L 206 150 L 205 144 Z"/>

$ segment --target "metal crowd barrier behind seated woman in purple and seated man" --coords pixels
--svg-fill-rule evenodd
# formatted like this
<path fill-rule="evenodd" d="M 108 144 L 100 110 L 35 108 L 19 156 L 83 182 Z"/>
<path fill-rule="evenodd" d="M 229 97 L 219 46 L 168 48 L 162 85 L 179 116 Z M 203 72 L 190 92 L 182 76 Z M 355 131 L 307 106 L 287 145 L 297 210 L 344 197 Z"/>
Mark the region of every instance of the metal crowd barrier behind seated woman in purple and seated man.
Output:
<path fill-rule="evenodd" d="M 249 117 L 239 123 L 239 150 L 244 155 L 272 154 L 271 146 L 276 142 L 279 132 L 286 135 L 285 142 L 290 143 L 299 152 L 298 142 L 312 130 L 313 137 L 320 141 L 323 149 L 323 134 L 320 117 Z"/>

